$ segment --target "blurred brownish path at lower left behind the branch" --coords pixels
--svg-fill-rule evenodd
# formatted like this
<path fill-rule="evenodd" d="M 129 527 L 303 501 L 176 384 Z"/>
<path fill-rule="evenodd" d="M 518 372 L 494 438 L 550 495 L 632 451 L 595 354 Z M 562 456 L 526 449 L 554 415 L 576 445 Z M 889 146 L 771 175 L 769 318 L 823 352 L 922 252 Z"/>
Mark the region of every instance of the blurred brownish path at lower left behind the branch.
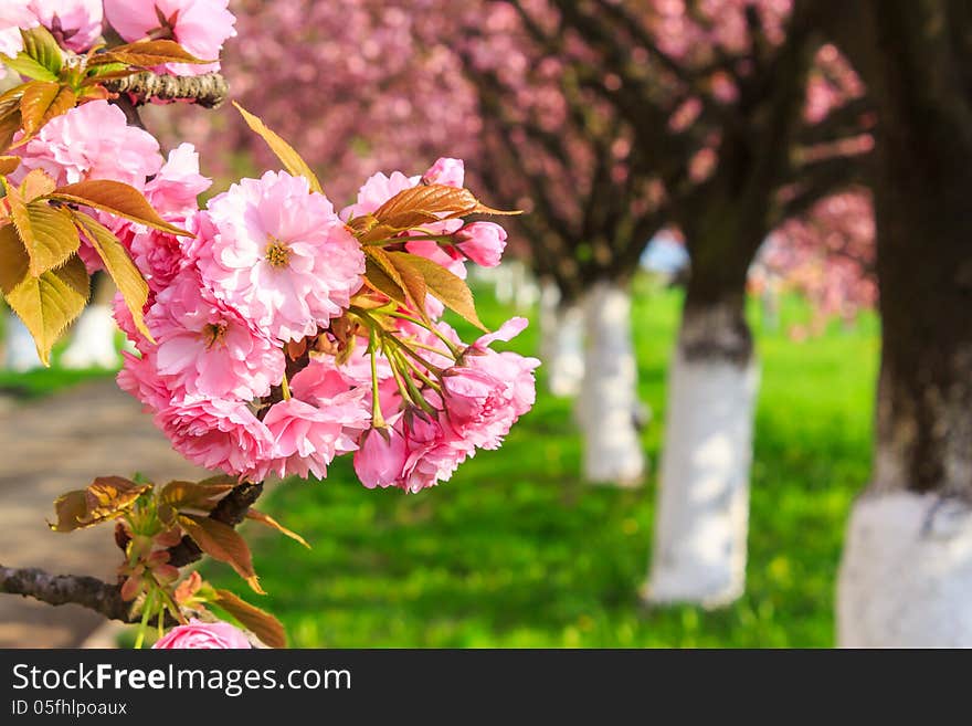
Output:
<path fill-rule="evenodd" d="M 109 527 L 51 532 L 53 501 L 98 475 L 150 480 L 204 475 L 171 450 L 114 380 L 85 383 L 41 401 L 0 399 L 0 562 L 110 579 L 118 564 Z M 104 620 L 77 606 L 0 595 L 0 648 L 78 645 Z"/>

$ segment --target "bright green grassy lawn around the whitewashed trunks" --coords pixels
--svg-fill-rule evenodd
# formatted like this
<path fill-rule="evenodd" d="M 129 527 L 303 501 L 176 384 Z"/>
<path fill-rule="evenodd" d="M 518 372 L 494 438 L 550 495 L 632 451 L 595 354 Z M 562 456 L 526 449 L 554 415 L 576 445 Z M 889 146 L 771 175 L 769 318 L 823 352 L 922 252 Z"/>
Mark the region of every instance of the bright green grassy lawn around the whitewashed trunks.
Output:
<path fill-rule="evenodd" d="M 657 472 L 667 358 L 679 296 L 640 286 L 634 319 L 644 432 Z M 510 311 L 480 296 L 497 326 Z M 266 598 L 295 646 L 826 646 L 844 522 L 869 471 L 874 317 L 853 330 L 793 343 L 795 299 L 779 330 L 753 307 L 762 389 L 753 465 L 749 587 L 706 612 L 638 606 L 652 540 L 655 481 L 635 492 L 578 478 L 570 404 L 546 396 L 498 452 L 482 452 L 448 483 L 418 495 L 369 492 L 350 461 L 324 483 L 288 482 L 262 507 L 304 535 L 250 527 Z M 514 341 L 537 347 L 536 328 Z M 242 593 L 219 564 L 208 577 Z"/>

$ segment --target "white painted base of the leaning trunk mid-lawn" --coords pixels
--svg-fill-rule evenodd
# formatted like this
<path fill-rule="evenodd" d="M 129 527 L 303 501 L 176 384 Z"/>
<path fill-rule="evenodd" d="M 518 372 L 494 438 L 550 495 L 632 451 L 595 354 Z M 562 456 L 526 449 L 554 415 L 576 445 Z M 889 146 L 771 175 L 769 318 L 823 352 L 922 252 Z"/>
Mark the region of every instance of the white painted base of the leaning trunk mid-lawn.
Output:
<path fill-rule="evenodd" d="M 645 599 L 717 607 L 746 587 L 749 470 L 759 368 L 686 360 L 668 376 L 655 547 Z"/>

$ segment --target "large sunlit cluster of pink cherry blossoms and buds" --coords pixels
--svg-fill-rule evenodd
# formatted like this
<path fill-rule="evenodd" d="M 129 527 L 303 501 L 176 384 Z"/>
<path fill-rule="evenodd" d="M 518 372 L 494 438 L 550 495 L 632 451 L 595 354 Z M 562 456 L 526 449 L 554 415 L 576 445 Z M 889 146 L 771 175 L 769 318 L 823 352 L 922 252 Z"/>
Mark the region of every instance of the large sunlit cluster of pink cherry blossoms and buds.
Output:
<path fill-rule="evenodd" d="M 440 160 L 425 175 L 432 178 L 461 185 L 462 162 Z M 154 338 L 139 335 L 116 305 L 138 349 L 126 355 L 122 388 L 190 461 L 253 481 L 323 478 L 335 456 L 355 452 L 366 486 L 414 492 L 447 480 L 476 449 L 497 448 L 532 406 L 539 361 L 489 346 L 509 340 L 526 320 L 464 346 L 444 322 L 430 328 L 414 311 L 376 301 L 362 286 L 361 244 L 342 221 L 420 182 L 376 175 L 338 214 L 303 177 L 267 172 L 193 211 L 207 180 L 191 147 L 176 149 L 142 188 L 193 236 L 116 223 L 149 282 L 145 319 Z M 463 276 L 464 261 L 482 248 L 498 262 L 505 239 L 498 225 L 443 220 L 432 227 L 444 235 L 441 245 L 405 233 L 392 246 Z M 352 298 L 362 292 L 391 312 L 374 329 L 348 327 Z M 430 297 L 426 308 L 437 317 L 442 304 Z M 376 336 L 384 341 L 380 350 L 369 345 Z"/>

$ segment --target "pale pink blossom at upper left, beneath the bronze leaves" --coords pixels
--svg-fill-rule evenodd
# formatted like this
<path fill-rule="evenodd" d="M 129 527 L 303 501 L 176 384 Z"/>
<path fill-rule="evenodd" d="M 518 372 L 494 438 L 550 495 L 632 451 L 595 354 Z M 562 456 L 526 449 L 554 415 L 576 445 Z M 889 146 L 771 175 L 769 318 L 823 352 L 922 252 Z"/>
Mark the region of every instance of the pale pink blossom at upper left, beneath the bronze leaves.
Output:
<path fill-rule="evenodd" d="M 159 171 L 159 143 L 129 126 L 125 113 L 107 101 L 92 101 L 51 119 L 20 150 L 18 175 L 43 169 L 59 185 L 85 179 L 110 179 L 145 187 Z"/>

